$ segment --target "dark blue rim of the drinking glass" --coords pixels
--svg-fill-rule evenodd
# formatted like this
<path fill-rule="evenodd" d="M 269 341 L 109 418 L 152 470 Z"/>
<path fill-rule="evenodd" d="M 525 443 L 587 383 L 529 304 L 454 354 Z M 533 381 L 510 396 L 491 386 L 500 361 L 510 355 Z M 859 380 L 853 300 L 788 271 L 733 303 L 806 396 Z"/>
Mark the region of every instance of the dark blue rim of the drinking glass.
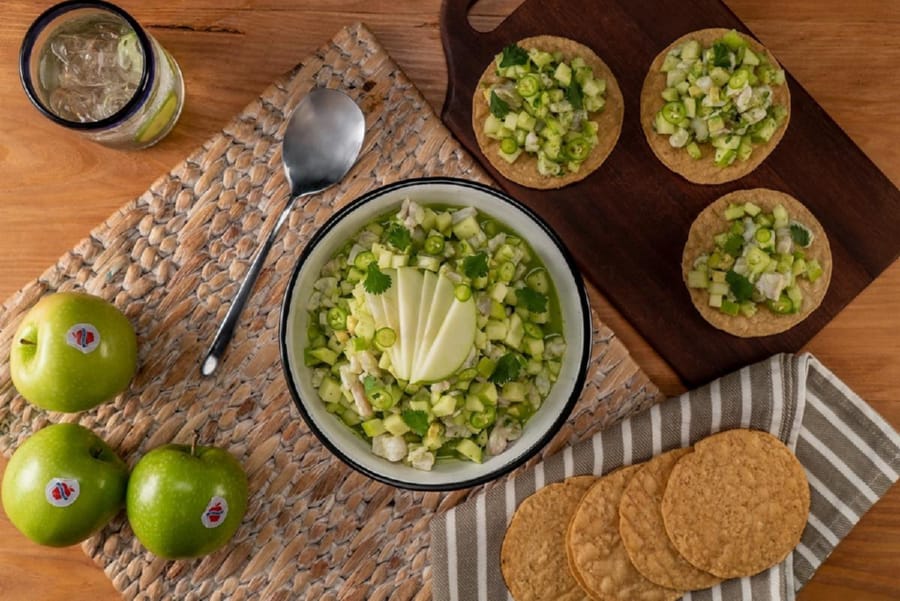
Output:
<path fill-rule="evenodd" d="M 141 72 L 141 79 L 134 94 L 128 99 L 122 107 L 104 119 L 99 121 L 72 121 L 57 115 L 49 106 L 47 106 L 35 89 L 34 81 L 31 77 L 31 58 L 35 50 L 34 46 L 38 36 L 53 22 L 54 19 L 65 13 L 80 9 L 99 9 L 124 20 L 137 36 L 141 51 L 144 54 L 144 64 Z M 78 130 L 100 130 L 108 129 L 125 121 L 133 116 L 141 107 L 144 100 L 149 96 L 150 90 L 153 89 L 153 79 L 155 70 L 155 59 L 153 54 L 153 45 L 150 37 L 138 24 L 138 22 L 125 10 L 119 8 L 115 4 L 105 2 L 104 0 L 66 0 L 59 4 L 55 4 L 41 13 L 25 32 L 25 38 L 22 40 L 22 46 L 19 49 L 19 79 L 22 87 L 25 88 L 25 94 L 45 117 L 63 125 L 69 129 Z"/>

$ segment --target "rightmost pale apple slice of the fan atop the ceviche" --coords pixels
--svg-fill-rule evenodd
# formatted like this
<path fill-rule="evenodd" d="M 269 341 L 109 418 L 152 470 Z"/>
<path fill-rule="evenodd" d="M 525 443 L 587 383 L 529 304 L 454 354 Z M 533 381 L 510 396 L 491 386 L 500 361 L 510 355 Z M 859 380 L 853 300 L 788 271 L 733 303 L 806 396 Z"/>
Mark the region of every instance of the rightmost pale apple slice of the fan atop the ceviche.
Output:
<path fill-rule="evenodd" d="M 436 382 L 453 374 L 463 364 L 475 344 L 475 301 L 453 297 L 434 338 L 419 344 L 427 352 L 425 359 L 413 367 L 414 381 Z"/>

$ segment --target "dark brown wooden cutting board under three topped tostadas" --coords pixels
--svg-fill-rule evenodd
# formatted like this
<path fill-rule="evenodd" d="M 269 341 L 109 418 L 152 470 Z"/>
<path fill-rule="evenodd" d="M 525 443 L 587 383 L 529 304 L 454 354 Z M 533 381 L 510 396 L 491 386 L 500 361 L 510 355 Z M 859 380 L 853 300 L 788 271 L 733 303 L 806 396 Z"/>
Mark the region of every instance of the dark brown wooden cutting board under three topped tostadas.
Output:
<path fill-rule="evenodd" d="M 791 121 L 784 139 L 750 175 L 717 186 L 692 184 L 652 154 L 638 121 L 641 85 L 653 58 L 679 36 L 707 27 L 751 33 L 718 0 L 526 0 L 497 29 L 479 33 L 474 0 L 445 0 L 441 36 L 448 90 L 442 118 L 500 187 L 542 215 L 585 275 L 656 348 L 688 386 L 782 351 L 797 351 L 900 254 L 900 191 L 788 73 Z M 472 130 L 472 96 L 503 46 L 523 37 L 568 37 L 594 49 L 625 97 L 616 148 L 598 171 L 555 191 L 500 176 Z M 693 308 L 681 281 L 681 252 L 694 217 L 737 189 L 766 187 L 805 203 L 828 234 L 834 276 L 821 307 L 792 330 L 741 339 L 716 330 Z"/>

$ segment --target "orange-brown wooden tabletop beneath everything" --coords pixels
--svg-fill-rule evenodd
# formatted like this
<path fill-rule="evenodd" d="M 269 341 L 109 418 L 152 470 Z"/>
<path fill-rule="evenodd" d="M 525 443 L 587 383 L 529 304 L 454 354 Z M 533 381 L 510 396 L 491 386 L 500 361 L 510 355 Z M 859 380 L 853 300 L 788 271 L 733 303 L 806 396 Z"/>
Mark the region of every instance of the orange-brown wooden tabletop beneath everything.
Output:
<path fill-rule="evenodd" d="M 727 0 L 836 121 L 900 184 L 900 1 Z M 119 0 L 177 58 L 187 84 L 178 126 L 156 147 L 113 151 L 51 124 L 19 85 L 18 48 L 50 1 L 5 0 L 0 20 L 0 298 L 39 275 L 157 176 L 178 163 L 273 79 L 341 26 L 365 21 L 440 110 L 446 67 L 440 0 Z M 482 0 L 491 29 L 519 0 Z M 900 263 L 895 262 L 808 345 L 900 428 Z M 617 312 L 601 318 L 667 394 L 671 369 Z M 5 467 L 0 458 L 0 470 Z M 900 599 L 900 486 L 863 517 L 799 598 Z M 117 599 L 77 547 L 31 544 L 0 514 L 0 599 Z"/>

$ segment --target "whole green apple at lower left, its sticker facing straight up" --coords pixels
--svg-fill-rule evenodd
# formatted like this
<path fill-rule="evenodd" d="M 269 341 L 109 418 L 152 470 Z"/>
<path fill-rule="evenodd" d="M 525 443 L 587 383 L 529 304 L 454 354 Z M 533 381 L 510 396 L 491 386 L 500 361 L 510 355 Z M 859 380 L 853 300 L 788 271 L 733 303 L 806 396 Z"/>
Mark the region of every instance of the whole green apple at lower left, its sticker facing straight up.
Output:
<path fill-rule="evenodd" d="M 3 474 L 3 509 L 36 543 L 65 547 L 88 538 L 125 504 L 128 466 L 78 424 L 54 424 L 16 449 Z"/>

